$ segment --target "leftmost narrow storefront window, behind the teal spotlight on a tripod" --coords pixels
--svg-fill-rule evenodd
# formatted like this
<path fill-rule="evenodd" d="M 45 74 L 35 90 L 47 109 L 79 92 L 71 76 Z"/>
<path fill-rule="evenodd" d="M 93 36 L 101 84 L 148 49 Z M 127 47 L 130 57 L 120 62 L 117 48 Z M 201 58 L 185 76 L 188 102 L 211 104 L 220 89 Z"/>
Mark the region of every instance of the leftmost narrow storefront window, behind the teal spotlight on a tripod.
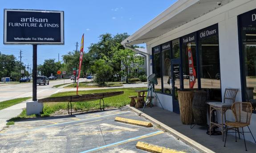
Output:
<path fill-rule="evenodd" d="M 153 48 L 153 73 L 157 76 L 158 84 L 154 85 L 155 91 L 162 91 L 162 81 L 161 81 L 161 52 L 160 46 Z"/>

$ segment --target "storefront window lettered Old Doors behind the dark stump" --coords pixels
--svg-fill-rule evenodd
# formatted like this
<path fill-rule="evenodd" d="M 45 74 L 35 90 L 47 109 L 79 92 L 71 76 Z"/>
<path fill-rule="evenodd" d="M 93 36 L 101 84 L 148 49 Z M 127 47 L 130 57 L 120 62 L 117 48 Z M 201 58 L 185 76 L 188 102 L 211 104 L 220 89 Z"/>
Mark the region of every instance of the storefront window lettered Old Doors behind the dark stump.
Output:
<path fill-rule="evenodd" d="M 198 31 L 198 38 L 201 88 L 220 89 L 218 24 Z"/>

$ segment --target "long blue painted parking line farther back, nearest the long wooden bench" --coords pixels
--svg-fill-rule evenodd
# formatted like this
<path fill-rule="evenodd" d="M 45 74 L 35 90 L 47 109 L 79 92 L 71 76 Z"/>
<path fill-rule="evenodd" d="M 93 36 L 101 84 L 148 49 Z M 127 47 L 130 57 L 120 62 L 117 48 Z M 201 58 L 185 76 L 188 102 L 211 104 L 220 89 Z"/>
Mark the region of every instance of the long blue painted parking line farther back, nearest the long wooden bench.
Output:
<path fill-rule="evenodd" d="M 126 112 L 122 112 L 119 114 L 125 114 L 125 113 L 129 113 L 130 111 L 126 111 Z M 108 117 L 108 116 L 114 116 L 114 115 L 119 115 L 119 114 L 109 114 L 109 115 L 104 115 L 104 116 L 100 116 L 100 117 L 95 117 L 95 118 L 85 118 L 85 119 L 81 119 L 81 120 L 75 120 L 75 121 L 69 121 L 69 122 L 63 122 L 63 123 L 57 123 L 57 124 L 53 124 L 53 125 L 48 125 L 48 126 L 40 126 L 37 128 L 33 128 L 33 129 L 29 129 L 29 130 L 18 130 L 18 131 L 10 131 L 7 133 L 0 133 L 0 135 L 7 135 L 8 133 L 20 133 L 20 132 L 27 132 L 27 131 L 35 131 L 37 129 L 42 129 L 42 128 L 47 128 L 47 127 L 53 127 L 53 126 L 59 126 L 62 124 L 69 124 L 69 123 L 75 123 L 75 122 L 82 122 L 82 121 L 86 121 L 86 120 L 90 120 L 90 119 L 97 119 L 97 118 L 104 118 L 104 117 Z"/>

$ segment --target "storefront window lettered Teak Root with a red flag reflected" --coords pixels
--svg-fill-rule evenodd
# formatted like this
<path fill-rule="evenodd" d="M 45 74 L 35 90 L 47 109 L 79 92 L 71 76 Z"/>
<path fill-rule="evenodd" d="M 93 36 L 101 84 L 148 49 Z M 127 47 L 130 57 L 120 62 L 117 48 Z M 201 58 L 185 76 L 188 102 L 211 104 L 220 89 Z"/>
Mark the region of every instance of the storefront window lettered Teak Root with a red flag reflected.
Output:
<path fill-rule="evenodd" d="M 182 70 L 184 89 L 198 88 L 196 76 L 195 33 L 182 37 Z M 180 76 L 179 76 L 180 77 Z"/>

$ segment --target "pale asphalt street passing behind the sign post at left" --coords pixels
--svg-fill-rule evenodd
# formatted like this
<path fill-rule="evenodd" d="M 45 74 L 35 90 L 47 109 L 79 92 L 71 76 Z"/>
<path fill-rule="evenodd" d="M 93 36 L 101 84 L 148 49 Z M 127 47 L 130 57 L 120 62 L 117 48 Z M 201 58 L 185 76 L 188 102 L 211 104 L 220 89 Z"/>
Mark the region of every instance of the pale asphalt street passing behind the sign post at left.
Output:
<path fill-rule="evenodd" d="M 85 80 L 85 78 L 80 78 L 80 82 Z M 72 82 L 73 80 L 65 79 L 65 83 Z M 51 94 L 61 91 L 62 88 L 53 88 L 53 86 L 63 83 L 64 80 L 50 80 L 49 85 L 37 85 L 37 98 L 48 97 Z M 23 97 L 32 97 L 32 82 L 13 85 L 0 85 L 0 102 Z"/>

